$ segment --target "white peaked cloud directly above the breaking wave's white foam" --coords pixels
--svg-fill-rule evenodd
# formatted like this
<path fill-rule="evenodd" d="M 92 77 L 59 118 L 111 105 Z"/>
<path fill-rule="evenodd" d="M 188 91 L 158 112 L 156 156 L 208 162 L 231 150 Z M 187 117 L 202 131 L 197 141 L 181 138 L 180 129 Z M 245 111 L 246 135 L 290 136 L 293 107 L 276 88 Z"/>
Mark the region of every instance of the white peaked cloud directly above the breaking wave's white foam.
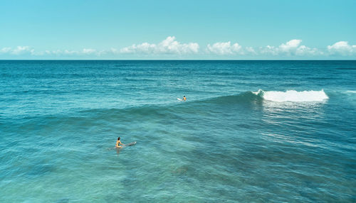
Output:
<path fill-rule="evenodd" d="M 260 53 L 262 55 L 299 55 L 299 56 L 307 56 L 307 55 L 323 55 L 323 52 L 318 50 L 317 48 L 308 48 L 305 45 L 300 45 L 302 40 L 289 40 L 286 43 L 282 43 L 278 47 L 267 45 L 264 48 L 260 48 Z"/>

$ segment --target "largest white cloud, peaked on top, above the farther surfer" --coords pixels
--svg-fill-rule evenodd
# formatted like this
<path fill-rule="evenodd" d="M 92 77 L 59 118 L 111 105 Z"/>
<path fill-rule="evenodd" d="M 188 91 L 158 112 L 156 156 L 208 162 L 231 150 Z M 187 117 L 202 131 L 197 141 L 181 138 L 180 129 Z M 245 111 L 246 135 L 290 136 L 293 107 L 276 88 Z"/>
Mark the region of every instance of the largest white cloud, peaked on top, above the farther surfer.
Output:
<path fill-rule="evenodd" d="M 197 43 L 179 43 L 174 36 L 169 36 L 158 44 L 142 43 L 131 45 L 120 49 L 120 53 L 142 53 L 142 54 L 177 54 L 184 55 L 189 53 L 198 53 L 199 45 Z"/>

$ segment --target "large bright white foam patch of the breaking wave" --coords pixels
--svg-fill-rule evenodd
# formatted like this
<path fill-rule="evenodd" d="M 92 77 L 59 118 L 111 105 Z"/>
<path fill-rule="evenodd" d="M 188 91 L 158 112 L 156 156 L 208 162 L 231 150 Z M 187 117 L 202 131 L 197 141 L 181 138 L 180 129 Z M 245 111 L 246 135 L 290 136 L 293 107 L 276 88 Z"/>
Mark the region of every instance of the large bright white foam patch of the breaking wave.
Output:
<path fill-rule="evenodd" d="M 320 91 L 302 91 L 298 92 L 295 90 L 288 90 L 286 92 L 278 91 L 266 91 L 259 89 L 258 92 L 253 92 L 253 94 L 260 95 L 263 99 L 268 101 L 295 101 L 295 102 L 305 102 L 305 101 L 323 101 L 329 99 L 328 95 L 325 94 L 324 90 Z"/>

